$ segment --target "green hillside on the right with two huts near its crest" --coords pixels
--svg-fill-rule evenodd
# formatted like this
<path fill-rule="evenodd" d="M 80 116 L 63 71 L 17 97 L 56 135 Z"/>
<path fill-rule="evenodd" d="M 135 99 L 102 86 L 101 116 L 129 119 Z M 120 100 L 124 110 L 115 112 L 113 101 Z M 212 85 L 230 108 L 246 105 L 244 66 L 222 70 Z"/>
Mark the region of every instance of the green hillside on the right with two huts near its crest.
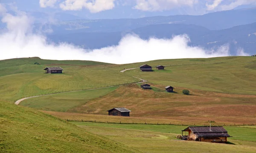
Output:
<path fill-rule="evenodd" d="M 256 95 L 256 58 L 254 57 L 157 60 L 127 66 L 138 67 L 140 64 L 167 67 L 166 70 L 157 70 L 153 67 L 154 72 L 134 69 L 125 73 L 163 86 Z"/>

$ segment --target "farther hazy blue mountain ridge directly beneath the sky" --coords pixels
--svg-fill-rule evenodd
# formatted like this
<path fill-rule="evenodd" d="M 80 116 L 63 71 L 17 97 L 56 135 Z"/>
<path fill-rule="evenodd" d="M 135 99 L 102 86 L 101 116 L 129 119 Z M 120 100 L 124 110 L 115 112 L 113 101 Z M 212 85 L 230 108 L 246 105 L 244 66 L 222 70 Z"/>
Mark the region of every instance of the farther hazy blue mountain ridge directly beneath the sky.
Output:
<path fill-rule="evenodd" d="M 155 24 L 188 24 L 204 26 L 210 30 L 228 29 L 234 26 L 256 22 L 256 8 L 214 12 L 199 16 L 175 15 L 155 16 L 138 19 L 69 20 L 45 24 L 43 29 L 52 28 L 53 34 L 78 32 L 119 32 L 129 31 Z M 41 27 L 37 25 L 36 27 Z"/>

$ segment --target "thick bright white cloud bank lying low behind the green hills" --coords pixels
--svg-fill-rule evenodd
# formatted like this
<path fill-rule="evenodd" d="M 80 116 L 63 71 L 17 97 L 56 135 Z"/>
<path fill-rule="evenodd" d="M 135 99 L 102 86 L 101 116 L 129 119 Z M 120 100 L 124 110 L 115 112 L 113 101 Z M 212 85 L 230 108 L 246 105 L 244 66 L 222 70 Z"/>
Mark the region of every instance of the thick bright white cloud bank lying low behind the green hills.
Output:
<path fill-rule="evenodd" d="M 150 38 L 143 40 L 137 35 L 126 35 L 117 46 L 85 50 L 67 43 L 47 42 L 43 35 L 31 32 L 32 21 L 23 12 L 16 16 L 4 13 L 2 22 L 7 24 L 7 32 L 0 34 L 0 60 L 9 58 L 40 57 L 52 60 L 90 60 L 113 64 L 128 64 L 157 59 L 210 58 L 229 56 L 228 46 L 217 50 L 204 50 L 188 46 L 187 35 L 172 39 Z M 243 55 L 243 50 L 239 55 Z"/>

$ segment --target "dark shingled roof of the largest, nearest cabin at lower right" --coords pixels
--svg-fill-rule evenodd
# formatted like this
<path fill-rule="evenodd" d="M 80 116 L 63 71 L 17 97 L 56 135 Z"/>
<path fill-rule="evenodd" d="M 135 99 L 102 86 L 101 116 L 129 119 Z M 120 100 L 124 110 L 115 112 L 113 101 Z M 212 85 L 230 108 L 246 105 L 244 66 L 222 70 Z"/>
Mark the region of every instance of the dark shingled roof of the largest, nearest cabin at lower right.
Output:
<path fill-rule="evenodd" d="M 219 127 L 219 126 L 212 126 L 211 130 L 210 130 L 210 127 L 208 126 L 187 127 L 182 131 L 188 131 L 188 130 L 191 130 L 198 137 L 215 137 L 215 136 L 230 137 L 230 135 L 227 134 L 227 130 L 225 130 L 224 127 Z"/>

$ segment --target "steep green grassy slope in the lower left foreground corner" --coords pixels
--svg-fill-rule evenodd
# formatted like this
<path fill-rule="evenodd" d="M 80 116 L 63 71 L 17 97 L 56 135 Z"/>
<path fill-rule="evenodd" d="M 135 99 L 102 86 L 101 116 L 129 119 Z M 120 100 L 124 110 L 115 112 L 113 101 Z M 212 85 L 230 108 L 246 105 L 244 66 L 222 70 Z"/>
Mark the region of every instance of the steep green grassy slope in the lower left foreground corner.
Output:
<path fill-rule="evenodd" d="M 1 153 L 138 152 L 37 110 L 0 102 L 0 112 Z"/>

